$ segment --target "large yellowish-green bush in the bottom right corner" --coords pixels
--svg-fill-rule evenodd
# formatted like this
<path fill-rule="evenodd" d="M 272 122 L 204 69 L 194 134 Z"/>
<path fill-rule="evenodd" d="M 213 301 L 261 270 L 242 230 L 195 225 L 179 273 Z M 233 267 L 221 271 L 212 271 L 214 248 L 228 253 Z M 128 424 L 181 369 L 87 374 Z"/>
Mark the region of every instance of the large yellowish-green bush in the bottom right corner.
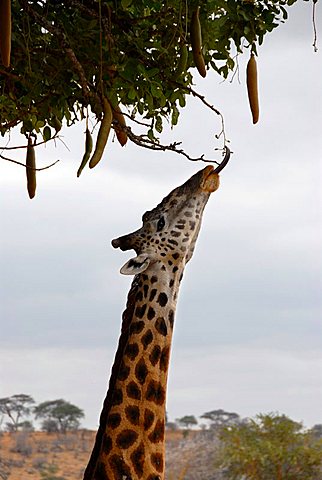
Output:
<path fill-rule="evenodd" d="M 258 415 L 221 432 L 229 480 L 321 479 L 322 441 L 285 415 Z"/>

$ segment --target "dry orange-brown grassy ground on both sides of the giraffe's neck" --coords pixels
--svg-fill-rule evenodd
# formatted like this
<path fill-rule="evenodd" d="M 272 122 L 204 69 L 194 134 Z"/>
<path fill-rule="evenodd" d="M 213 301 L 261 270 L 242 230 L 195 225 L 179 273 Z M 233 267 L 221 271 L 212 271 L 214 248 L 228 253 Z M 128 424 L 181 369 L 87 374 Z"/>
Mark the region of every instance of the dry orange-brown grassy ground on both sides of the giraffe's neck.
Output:
<path fill-rule="evenodd" d="M 81 480 L 95 433 L 44 432 L 0 434 L 0 480 Z M 167 480 L 212 480 L 213 442 L 190 432 L 167 431 Z M 208 451 L 209 450 L 209 451 Z M 207 453 L 208 451 L 208 453 Z M 202 452 L 202 453 L 201 453 Z M 206 460 L 210 462 L 206 465 Z M 207 471 L 207 474 L 205 473 Z"/>

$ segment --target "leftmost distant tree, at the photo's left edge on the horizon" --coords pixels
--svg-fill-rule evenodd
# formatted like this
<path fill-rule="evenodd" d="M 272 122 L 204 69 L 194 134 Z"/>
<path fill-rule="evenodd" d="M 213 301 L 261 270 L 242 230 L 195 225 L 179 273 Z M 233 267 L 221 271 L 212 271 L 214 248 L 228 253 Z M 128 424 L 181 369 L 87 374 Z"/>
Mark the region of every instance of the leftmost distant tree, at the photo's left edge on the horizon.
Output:
<path fill-rule="evenodd" d="M 0 412 L 10 419 L 6 424 L 10 431 L 16 432 L 23 427 L 22 419 L 30 415 L 34 403 L 34 399 L 24 393 L 0 398 Z"/>

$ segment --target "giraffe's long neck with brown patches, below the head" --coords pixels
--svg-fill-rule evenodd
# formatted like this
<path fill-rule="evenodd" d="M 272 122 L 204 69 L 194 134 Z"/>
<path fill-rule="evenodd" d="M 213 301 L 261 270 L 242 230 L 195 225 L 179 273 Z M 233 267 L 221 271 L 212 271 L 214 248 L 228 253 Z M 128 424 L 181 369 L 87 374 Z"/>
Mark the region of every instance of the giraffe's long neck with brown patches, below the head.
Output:
<path fill-rule="evenodd" d="M 163 480 L 165 400 L 183 267 L 137 275 L 84 480 Z"/>

